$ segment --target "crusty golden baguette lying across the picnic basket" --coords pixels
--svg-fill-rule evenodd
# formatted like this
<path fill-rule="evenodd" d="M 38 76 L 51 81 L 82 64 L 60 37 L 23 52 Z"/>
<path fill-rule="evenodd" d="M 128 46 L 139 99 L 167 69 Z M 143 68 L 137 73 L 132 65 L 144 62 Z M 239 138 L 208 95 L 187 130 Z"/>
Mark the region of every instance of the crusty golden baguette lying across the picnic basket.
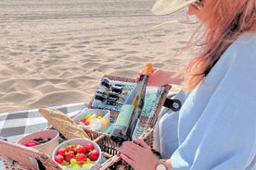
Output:
<path fill-rule="evenodd" d="M 76 138 L 90 139 L 83 128 L 78 127 L 68 115 L 45 107 L 39 108 L 39 113 L 68 140 Z"/>

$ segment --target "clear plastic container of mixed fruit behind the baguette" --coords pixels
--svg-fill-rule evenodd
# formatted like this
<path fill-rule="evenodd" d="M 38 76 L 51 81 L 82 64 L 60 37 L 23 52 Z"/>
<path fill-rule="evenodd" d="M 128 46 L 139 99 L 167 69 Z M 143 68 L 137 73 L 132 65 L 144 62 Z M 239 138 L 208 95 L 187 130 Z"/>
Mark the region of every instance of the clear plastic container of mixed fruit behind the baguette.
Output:
<path fill-rule="evenodd" d="M 89 128 L 103 132 L 109 127 L 110 111 L 103 109 L 86 109 L 79 115 L 76 115 L 73 120 L 81 128 Z"/>

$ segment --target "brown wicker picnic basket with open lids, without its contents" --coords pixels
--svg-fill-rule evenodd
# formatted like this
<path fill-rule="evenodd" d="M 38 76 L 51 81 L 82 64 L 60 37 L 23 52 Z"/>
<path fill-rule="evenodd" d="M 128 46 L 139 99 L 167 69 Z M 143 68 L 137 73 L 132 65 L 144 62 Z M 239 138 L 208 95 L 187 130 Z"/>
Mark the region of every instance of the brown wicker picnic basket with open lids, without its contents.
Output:
<path fill-rule="evenodd" d="M 104 78 L 111 80 L 118 80 L 123 82 L 134 82 L 134 79 L 123 78 L 106 75 Z M 171 89 L 170 85 L 163 87 L 164 91 L 161 93 L 160 101 L 157 105 L 157 109 L 152 117 L 141 116 L 140 125 L 147 126 L 139 138 L 144 139 L 147 144 L 151 147 L 152 151 L 154 150 L 154 139 L 153 139 L 153 128 L 156 124 L 156 121 L 160 114 L 160 109 L 165 102 L 168 91 Z M 92 100 L 93 101 L 93 100 Z M 96 108 L 93 106 L 92 102 L 89 103 L 88 108 Z M 79 114 L 79 113 L 78 113 Z M 110 110 L 110 118 L 115 120 L 119 114 L 119 111 Z M 91 140 L 96 141 L 102 150 L 102 164 L 98 168 L 99 170 L 105 169 L 133 169 L 129 164 L 126 164 L 119 156 L 119 153 L 116 151 L 116 147 L 119 147 L 119 144 L 110 139 L 109 134 L 102 132 L 94 131 L 91 129 L 84 129 L 85 132 L 89 135 Z M 61 140 L 65 138 L 60 134 Z M 55 163 L 50 156 L 46 155 L 44 152 L 39 152 L 31 148 L 17 145 L 14 143 L 7 142 L 0 139 L 0 159 L 5 164 L 6 169 L 13 170 L 23 170 L 23 169 L 61 169 L 61 167 Z"/>

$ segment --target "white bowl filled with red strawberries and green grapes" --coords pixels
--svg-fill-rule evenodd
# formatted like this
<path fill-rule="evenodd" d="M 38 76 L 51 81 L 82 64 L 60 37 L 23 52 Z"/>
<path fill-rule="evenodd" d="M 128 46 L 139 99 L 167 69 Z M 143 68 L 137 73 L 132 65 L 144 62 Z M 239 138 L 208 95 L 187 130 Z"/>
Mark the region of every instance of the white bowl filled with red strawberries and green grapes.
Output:
<path fill-rule="evenodd" d="M 101 149 L 93 140 L 65 140 L 58 145 L 52 159 L 63 169 L 93 170 L 100 166 Z"/>

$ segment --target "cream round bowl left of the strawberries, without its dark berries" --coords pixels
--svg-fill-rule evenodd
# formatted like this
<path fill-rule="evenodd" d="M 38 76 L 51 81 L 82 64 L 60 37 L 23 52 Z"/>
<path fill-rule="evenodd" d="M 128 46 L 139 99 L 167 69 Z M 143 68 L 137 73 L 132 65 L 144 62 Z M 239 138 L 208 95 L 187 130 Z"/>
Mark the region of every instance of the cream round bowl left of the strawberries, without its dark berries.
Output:
<path fill-rule="evenodd" d="M 31 133 L 17 140 L 16 143 L 20 145 L 24 145 L 26 141 L 38 139 L 38 138 L 42 138 L 43 140 L 51 138 L 51 140 L 36 146 L 32 146 L 31 148 L 38 150 L 40 152 L 44 152 L 45 154 L 51 156 L 54 149 L 59 144 L 59 133 L 55 129 L 45 129 L 45 130 L 40 130 L 40 131 Z"/>

